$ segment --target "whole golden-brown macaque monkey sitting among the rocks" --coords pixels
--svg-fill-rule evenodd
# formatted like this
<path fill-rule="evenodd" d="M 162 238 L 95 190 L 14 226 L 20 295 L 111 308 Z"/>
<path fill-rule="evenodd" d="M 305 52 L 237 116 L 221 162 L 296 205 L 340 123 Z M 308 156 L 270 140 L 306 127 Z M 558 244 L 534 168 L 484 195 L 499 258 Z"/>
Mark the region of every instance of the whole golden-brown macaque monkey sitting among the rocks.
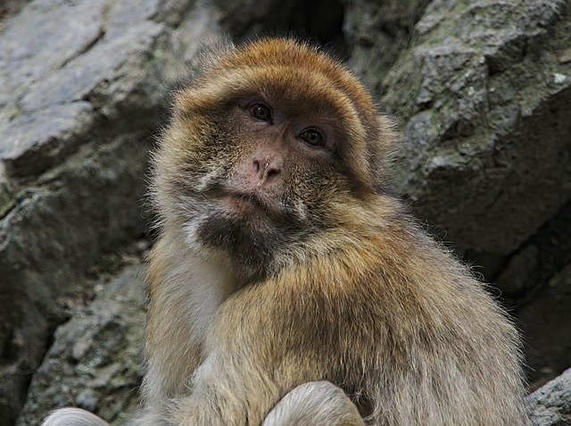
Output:
<path fill-rule="evenodd" d="M 390 195 L 395 143 L 314 47 L 203 55 L 153 160 L 134 424 L 526 422 L 517 331 Z"/>

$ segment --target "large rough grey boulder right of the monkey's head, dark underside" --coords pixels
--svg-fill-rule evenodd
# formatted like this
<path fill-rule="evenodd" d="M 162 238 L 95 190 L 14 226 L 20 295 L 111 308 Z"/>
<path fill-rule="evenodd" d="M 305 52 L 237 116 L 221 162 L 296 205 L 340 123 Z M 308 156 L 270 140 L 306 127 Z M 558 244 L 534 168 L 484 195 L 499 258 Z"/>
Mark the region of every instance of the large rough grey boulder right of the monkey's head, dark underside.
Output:
<path fill-rule="evenodd" d="M 571 199 L 570 29 L 559 0 L 434 1 L 373 80 L 403 130 L 396 190 L 460 254 L 509 255 Z"/>

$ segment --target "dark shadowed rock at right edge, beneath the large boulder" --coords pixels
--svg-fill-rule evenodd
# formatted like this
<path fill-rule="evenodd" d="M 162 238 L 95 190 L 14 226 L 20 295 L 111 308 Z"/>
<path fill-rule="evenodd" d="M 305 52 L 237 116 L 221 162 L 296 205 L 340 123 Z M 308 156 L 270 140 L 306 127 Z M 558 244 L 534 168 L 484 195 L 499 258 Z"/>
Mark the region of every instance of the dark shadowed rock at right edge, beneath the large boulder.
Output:
<path fill-rule="evenodd" d="M 516 306 L 517 326 L 532 382 L 552 378 L 569 366 L 571 332 L 565 305 L 571 302 L 564 277 L 571 264 L 571 202 L 546 222 L 498 276 L 498 287 Z M 555 286 L 554 286 L 555 285 Z M 509 292 L 512 292 L 511 294 Z"/>

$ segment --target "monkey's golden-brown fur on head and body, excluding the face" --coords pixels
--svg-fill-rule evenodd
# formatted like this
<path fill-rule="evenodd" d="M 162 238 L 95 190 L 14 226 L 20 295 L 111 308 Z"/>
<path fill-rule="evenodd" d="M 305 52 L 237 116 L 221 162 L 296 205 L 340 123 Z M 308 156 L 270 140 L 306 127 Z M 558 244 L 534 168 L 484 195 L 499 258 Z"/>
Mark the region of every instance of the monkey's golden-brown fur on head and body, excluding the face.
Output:
<path fill-rule="evenodd" d="M 385 195 L 394 137 L 366 90 L 327 55 L 291 40 L 214 58 L 178 93 L 156 157 L 163 234 L 150 258 L 147 403 L 169 402 L 158 410 L 180 424 L 260 424 L 291 389 L 328 380 L 370 423 L 524 422 L 517 332 L 483 286 Z M 213 151 L 208 139 L 220 132 L 220 104 L 249 92 L 277 96 L 292 114 L 336 114 L 350 178 L 295 181 L 299 194 L 324 200 L 326 213 L 309 237 L 270 245 L 263 271 L 196 243 L 181 198 L 195 174 L 247 155 L 240 146 Z M 197 280 L 215 285 L 196 290 Z M 189 305 L 205 294 L 210 317 L 197 328 Z"/>

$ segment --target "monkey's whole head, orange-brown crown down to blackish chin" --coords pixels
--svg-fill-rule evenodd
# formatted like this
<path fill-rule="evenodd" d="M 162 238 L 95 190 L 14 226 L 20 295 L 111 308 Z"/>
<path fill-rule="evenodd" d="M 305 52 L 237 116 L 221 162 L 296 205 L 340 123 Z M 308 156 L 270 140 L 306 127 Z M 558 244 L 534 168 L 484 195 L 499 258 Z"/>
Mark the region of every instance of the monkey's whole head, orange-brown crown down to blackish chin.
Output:
<path fill-rule="evenodd" d="M 161 221 L 253 275 L 382 190 L 393 134 L 339 63 L 289 39 L 203 55 L 155 155 Z M 341 206 L 344 207 L 341 207 Z"/>

